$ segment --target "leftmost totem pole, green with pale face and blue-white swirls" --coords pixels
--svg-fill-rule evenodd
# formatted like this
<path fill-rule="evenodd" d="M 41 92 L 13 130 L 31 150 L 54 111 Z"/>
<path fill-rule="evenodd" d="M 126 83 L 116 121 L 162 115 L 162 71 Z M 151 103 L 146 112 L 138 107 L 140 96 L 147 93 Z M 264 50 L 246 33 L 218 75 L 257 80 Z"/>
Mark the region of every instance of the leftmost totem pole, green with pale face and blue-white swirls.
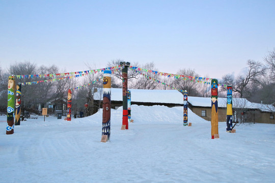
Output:
<path fill-rule="evenodd" d="M 7 131 L 6 134 L 10 135 L 14 133 L 14 89 L 15 89 L 15 77 L 9 76 L 8 81 L 8 107 L 7 107 Z"/>

